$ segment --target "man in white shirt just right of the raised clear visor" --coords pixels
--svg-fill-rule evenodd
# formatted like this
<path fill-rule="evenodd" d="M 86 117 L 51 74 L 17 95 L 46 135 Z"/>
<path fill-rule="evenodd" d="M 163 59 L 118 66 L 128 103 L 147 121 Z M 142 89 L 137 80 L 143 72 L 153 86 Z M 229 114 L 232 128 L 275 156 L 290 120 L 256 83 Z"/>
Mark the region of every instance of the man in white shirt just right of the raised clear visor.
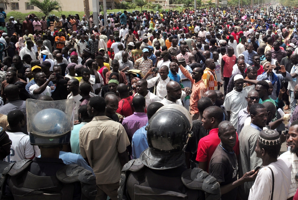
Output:
<path fill-rule="evenodd" d="M 81 103 L 80 100 L 83 98 L 80 95 L 79 81 L 75 78 L 70 79 L 67 82 L 67 91 L 70 92 L 70 94 L 67 96 L 67 99 L 74 99 L 75 100 L 74 115 L 75 115 L 75 120 L 78 120 L 77 116 L 78 116 L 79 106 L 80 106 L 80 103 Z"/>

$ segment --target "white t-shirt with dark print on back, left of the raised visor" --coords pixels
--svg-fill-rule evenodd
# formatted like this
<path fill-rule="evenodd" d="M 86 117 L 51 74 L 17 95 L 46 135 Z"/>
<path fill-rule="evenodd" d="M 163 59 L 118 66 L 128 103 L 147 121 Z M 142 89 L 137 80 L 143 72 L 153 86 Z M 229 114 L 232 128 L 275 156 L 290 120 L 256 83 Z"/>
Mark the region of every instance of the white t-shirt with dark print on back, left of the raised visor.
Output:
<path fill-rule="evenodd" d="M 9 139 L 12 141 L 10 147 L 10 155 L 5 158 L 6 162 L 18 162 L 34 155 L 34 148 L 30 145 L 29 135 L 22 132 L 9 132 L 6 131 Z"/>

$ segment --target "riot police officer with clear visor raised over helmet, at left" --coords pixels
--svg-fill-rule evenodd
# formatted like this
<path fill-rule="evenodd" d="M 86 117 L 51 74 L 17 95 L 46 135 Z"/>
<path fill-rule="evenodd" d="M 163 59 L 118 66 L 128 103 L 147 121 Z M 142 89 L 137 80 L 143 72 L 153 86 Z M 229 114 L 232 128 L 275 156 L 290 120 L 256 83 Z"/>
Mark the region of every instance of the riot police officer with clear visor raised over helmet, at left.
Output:
<path fill-rule="evenodd" d="M 26 110 L 30 144 L 38 145 L 41 158 L 21 160 L 4 169 L 1 199 L 95 199 L 95 176 L 59 159 L 59 151 L 70 142 L 74 100 L 27 99 Z"/>

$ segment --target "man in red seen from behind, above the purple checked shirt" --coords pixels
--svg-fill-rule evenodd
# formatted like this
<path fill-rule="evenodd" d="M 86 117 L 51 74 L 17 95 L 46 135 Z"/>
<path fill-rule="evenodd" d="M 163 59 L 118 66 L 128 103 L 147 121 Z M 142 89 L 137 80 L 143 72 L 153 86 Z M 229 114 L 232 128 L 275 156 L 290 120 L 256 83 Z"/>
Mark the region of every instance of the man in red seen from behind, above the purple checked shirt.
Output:
<path fill-rule="evenodd" d="M 124 83 L 120 83 L 117 86 L 117 92 L 119 93 L 121 100 L 119 101 L 116 112 L 124 117 L 134 114 L 134 107 L 132 106 L 133 97 L 129 96 L 127 86 Z"/>

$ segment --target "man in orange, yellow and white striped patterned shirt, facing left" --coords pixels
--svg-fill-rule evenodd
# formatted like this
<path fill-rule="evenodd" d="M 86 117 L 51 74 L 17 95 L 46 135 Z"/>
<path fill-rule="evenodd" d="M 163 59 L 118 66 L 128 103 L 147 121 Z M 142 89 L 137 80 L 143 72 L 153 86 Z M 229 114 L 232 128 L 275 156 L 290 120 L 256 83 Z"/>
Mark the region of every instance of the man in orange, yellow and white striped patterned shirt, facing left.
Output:
<path fill-rule="evenodd" d="M 205 61 L 206 69 L 204 70 L 204 74 L 202 76 L 202 80 L 205 83 L 207 90 L 217 90 L 217 80 L 215 76 L 215 62 L 213 59 L 208 58 Z"/>

